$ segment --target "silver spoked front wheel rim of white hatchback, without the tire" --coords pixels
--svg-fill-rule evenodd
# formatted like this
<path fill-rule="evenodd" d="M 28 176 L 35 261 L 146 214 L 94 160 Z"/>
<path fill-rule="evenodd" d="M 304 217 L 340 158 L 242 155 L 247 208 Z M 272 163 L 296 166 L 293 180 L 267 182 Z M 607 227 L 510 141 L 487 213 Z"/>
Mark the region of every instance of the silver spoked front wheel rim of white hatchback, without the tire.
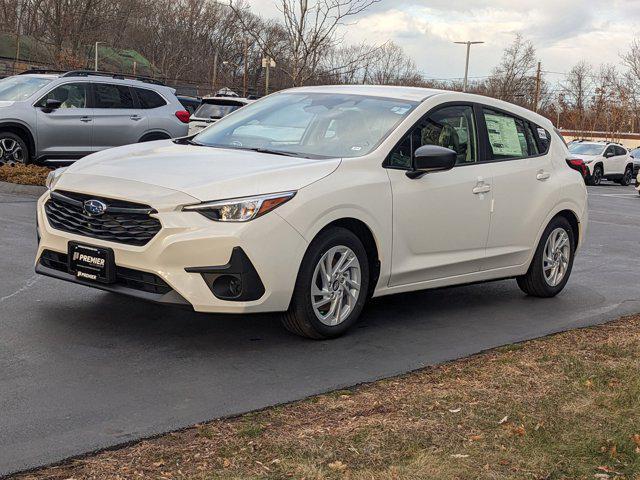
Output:
<path fill-rule="evenodd" d="M 362 271 L 357 255 L 342 245 L 318 261 L 311 281 L 311 305 L 318 320 L 336 326 L 344 322 L 360 297 Z"/>

